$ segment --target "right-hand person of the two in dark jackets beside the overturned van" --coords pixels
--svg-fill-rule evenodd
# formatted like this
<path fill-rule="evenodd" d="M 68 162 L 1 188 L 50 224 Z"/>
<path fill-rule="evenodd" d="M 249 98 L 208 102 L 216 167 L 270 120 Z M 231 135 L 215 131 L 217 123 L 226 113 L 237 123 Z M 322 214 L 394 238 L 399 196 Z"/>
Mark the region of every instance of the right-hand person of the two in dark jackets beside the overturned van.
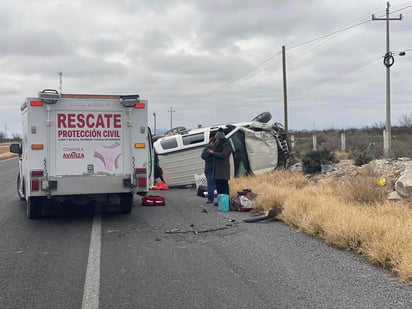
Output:
<path fill-rule="evenodd" d="M 229 194 L 229 158 L 232 150 L 222 128 L 219 128 L 215 138 L 216 144 L 214 149 L 208 150 L 213 156 L 213 178 L 215 179 L 217 194 Z"/>

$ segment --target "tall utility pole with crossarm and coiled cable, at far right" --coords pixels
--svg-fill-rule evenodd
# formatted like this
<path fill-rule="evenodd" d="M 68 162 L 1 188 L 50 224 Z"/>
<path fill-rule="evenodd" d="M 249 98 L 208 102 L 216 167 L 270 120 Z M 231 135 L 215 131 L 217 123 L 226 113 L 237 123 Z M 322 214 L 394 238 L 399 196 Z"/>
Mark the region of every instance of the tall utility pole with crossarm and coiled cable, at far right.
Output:
<path fill-rule="evenodd" d="M 389 47 L 389 21 L 390 20 L 401 20 L 402 14 L 399 17 L 389 17 L 389 8 L 390 3 L 386 3 L 386 17 L 385 18 L 377 18 L 374 14 L 372 14 L 372 20 L 385 20 L 386 21 L 386 54 L 383 58 L 383 64 L 386 66 L 386 128 L 385 128 L 385 135 L 386 135 L 386 143 L 384 142 L 383 151 L 385 153 L 385 157 L 389 157 L 391 153 L 391 66 L 394 63 L 394 58 L 392 52 L 390 51 Z"/>

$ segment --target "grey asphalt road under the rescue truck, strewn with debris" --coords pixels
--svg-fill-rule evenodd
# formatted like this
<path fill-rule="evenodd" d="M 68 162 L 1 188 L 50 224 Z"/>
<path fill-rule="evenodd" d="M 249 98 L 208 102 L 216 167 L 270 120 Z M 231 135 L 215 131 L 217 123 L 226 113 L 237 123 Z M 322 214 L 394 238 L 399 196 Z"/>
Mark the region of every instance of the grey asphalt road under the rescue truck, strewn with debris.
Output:
<path fill-rule="evenodd" d="M 0 161 L 0 308 L 412 308 L 412 287 L 282 222 L 244 223 L 195 190 L 166 206 L 26 218 Z M 169 233 L 168 233 L 169 232 Z"/>

